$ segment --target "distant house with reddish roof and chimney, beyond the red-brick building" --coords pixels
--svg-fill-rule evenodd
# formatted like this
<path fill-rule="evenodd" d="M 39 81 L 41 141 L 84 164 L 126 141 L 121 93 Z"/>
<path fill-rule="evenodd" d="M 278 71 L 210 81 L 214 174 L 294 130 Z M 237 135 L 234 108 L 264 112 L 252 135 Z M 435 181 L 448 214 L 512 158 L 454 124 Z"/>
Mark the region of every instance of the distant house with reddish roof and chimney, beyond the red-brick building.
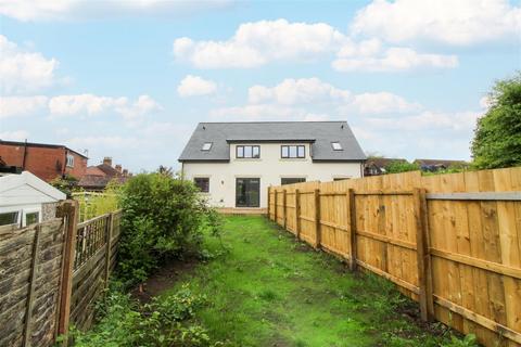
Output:
<path fill-rule="evenodd" d="M 78 182 L 78 187 L 86 191 L 103 191 L 112 180 L 125 183 L 130 174 L 123 169 L 122 165 L 112 166 L 112 158 L 104 157 L 103 163 L 97 166 L 89 166 L 86 174 Z"/>

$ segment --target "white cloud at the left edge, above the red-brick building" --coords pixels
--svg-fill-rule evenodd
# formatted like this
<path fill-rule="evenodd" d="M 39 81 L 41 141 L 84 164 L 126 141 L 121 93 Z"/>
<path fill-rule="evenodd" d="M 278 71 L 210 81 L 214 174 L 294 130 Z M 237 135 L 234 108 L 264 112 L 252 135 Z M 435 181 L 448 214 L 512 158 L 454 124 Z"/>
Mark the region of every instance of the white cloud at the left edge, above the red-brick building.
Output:
<path fill-rule="evenodd" d="M 26 52 L 0 35 L 0 92 L 26 93 L 52 86 L 59 63 L 38 52 Z"/>

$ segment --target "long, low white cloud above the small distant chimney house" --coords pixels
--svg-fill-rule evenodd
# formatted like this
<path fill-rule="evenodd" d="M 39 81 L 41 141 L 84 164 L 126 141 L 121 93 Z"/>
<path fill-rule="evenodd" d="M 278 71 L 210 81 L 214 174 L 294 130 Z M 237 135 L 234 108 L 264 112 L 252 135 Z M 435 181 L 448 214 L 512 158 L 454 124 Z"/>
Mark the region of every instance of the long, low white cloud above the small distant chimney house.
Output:
<path fill-rule="evenodd" d="M 94 94 L 59 95 L 49 101 L 49 112 L 53 117 L 93 116 L 112 112 L 127 120 L 136 120 L 160 110 L 162 110 L 161 105 L 149 95 L 140 95 L 135 102 L 124 97 Z"/>

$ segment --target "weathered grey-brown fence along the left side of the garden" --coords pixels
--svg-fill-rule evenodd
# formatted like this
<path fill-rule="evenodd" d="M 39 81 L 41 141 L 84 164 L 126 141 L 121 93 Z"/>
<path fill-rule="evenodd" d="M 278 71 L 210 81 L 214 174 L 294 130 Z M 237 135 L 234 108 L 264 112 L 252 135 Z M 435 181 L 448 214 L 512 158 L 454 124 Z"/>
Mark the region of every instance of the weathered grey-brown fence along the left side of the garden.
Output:
<path fill-rule="evenodd" d="M 51 346 L 69 324 L 90 327 L 116 262 L 120 216 L 78 223 L 78 203 L 66 201 L 53 220 L 0 227 L 0 346 Z"/>

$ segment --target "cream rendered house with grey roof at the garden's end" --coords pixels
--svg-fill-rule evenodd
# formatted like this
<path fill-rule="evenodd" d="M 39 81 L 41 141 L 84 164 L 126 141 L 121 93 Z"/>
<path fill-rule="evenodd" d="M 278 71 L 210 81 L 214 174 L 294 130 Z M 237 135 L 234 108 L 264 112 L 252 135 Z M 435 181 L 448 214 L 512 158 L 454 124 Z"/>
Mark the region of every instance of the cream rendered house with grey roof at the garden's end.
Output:
<path fill-rule="evenodd" d="M 266 208 L 270 185 L 359 178 L 365 159 L 345 121 L 201 123 L 179 157 L 224 208 Z"/>

